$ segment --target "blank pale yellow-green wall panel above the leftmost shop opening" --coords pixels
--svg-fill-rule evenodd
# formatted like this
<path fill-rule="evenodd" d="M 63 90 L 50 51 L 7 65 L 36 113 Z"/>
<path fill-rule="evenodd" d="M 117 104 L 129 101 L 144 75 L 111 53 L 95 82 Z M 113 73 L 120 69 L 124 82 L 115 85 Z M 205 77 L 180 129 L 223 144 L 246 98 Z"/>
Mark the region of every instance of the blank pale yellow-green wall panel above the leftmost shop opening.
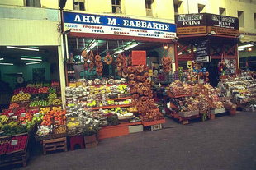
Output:
<path fill-rule="evenodd" d="M 0 5 L 0 23 L 0 46 L 60 45 L 59 10 Z"/>

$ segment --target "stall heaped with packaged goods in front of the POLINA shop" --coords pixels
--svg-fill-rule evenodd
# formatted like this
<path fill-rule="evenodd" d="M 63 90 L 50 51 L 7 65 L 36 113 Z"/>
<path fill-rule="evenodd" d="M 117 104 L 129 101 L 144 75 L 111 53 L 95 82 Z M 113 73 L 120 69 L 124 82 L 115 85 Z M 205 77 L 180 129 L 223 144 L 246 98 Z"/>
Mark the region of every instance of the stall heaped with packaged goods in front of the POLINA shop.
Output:
<path fill-rule="evenodd" d="M 220 101 L 221 93 L 211 85 L 183 83 L 175 80 L 167 87 L 170 102 L 167 104 L 167 117 L 187 124 L 192 119 L 214 119 L 218 113 L 225 113 L 224 104 Z"/>

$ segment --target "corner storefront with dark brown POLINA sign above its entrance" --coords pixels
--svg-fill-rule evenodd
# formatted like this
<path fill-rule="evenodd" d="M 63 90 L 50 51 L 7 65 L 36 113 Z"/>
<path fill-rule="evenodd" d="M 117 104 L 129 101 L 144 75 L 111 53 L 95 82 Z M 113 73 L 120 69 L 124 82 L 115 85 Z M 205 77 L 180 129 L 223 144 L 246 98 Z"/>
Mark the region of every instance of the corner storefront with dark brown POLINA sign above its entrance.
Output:
<path fill-rule="evenodd" d="M 176 59 L 184 70 L 201 72 L 201 79 L 216 86 L 220 75 L 239 72 L 238 18 L 215 14 L 187 14 L 176 16 Z M 187 67 L 187 61 L 194 65 Z M 200 63 L 200 64 L 199 64 Z M 206 77 L 206 72 L 210 76 Z M 206 78 L 208 79 L 206 79 Z"/>

